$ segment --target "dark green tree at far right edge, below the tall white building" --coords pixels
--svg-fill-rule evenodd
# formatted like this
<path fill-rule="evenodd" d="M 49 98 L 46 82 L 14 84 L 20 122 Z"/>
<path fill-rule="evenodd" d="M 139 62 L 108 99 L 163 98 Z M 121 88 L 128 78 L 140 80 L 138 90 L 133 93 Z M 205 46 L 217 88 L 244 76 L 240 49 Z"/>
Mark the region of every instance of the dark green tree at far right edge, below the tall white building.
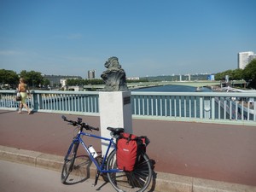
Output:
<path fill-rule="evenodd" d="M 256 89 L 256 59 L 251 61 L 243 70 L 243 79 L 249 82 L 248 87 Z"/>

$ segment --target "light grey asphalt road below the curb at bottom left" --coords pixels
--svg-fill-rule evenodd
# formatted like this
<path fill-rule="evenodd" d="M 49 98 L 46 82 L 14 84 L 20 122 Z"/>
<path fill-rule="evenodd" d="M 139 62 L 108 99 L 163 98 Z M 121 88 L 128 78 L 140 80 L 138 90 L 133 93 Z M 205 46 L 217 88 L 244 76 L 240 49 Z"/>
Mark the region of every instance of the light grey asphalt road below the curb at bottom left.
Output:
<path fill-rule="evenodd" d="M 61 183 L 61 172 L 0 160 L 1 192 L 114 191 L 110 183 L 99 181 L 96 187 L 92 187 L 92 183 L 94 183 L 93 179 L 86 179 L 65 185 Z"/>

